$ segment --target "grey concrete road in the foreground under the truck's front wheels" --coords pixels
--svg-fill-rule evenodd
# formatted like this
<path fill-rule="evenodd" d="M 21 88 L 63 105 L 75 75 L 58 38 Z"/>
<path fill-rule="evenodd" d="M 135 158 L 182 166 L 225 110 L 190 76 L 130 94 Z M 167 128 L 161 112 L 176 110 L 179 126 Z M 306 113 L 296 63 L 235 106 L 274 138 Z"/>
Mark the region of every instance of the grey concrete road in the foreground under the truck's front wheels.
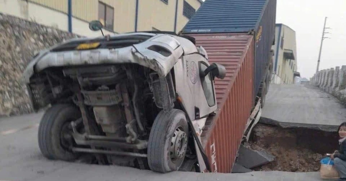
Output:
<path fill-rule="evenodd" d="M 39 151 L 37 130 L 42 113 L 0 118 L 0 181 L 316 181 L 318 172 L 249 172 L 246 174 L 155 173 L 128 167 L 47 160 Z"/>

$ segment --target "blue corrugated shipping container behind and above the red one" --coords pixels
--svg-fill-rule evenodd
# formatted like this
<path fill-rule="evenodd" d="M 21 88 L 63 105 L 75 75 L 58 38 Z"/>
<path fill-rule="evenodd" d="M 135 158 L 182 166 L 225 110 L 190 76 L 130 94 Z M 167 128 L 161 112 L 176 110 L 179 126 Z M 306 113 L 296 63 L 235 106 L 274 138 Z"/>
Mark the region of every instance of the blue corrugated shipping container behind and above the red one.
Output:
<path fill-rule="evenodd" d="M 182 33 L 253 34 L 255 99 L 261 83 L 271 70 L 270 50 L 275 36 L 275 14 L 276 0 L 206 0 Z"/>

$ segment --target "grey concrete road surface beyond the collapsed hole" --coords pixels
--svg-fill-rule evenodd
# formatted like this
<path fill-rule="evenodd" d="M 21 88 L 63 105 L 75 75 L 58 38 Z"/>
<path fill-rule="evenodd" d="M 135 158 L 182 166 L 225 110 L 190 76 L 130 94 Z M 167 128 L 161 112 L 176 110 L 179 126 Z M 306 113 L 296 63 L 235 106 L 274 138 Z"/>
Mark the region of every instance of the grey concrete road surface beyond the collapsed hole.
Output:
<path fill-rule="evenodd" d="M 262 122 L 282 127 L 308 127 L 336 131 L 346 122 L 346 108 L 333 95 L 310 85 L 270 84 Z"/>

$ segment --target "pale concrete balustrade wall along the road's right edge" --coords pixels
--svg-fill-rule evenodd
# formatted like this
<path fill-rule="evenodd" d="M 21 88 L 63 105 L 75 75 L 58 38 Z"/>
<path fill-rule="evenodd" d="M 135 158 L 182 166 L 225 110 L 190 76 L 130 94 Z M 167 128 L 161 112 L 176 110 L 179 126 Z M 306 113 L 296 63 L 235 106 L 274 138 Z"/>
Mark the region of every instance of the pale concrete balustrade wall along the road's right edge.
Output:
<path fill-rule="evenodd" d="M 346 66 L 320 70 L 310 78 L 310 84 L 346 103 Z"/>

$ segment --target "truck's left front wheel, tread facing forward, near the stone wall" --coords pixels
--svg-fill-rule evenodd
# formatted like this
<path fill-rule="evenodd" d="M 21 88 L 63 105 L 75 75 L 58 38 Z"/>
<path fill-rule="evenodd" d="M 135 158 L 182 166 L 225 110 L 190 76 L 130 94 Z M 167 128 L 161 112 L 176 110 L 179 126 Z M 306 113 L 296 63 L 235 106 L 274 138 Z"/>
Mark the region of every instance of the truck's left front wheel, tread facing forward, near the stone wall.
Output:
<path fill-rule="evenodd" d="M 78 154 L 69 150 L 73 146 L 71 121 L 81 117 L 81 113 L 71 104 L 57 104 L 43 115 L 38 128 L 38 145 L 48 159 L 73 161 Z"/>

